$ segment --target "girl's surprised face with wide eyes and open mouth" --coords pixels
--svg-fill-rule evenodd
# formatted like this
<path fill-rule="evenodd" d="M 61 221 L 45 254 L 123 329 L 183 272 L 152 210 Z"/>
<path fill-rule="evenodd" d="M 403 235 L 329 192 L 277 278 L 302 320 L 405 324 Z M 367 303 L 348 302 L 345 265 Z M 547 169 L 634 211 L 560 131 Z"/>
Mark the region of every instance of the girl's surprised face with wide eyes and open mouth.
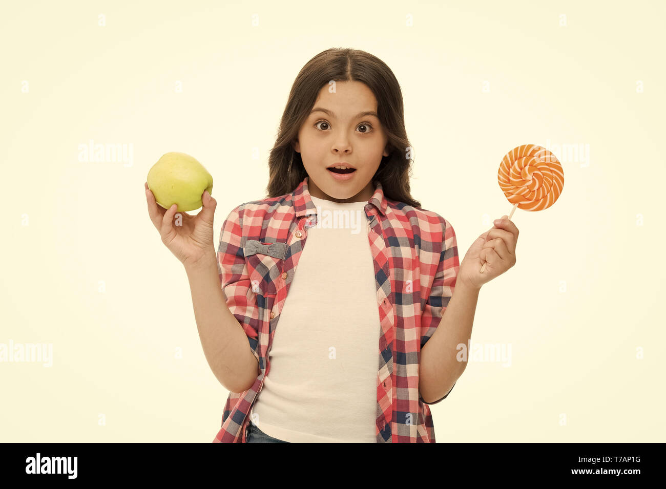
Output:
<path fill-rule="evenodd" d="M 294 150 L 308 173 L 310 195 L 334 202 L 370 200 L 374 176 L 382 156 L 388 156 L 388 136 L 377 112 L 377 100 L 358 81 L 338 81 L 335 92 L 324 86 L 304 124 Z M 372 112 L 368 114 L 367 112 Z M 344 180 L 328 166 L 344 162 L 356 168 Z"/>

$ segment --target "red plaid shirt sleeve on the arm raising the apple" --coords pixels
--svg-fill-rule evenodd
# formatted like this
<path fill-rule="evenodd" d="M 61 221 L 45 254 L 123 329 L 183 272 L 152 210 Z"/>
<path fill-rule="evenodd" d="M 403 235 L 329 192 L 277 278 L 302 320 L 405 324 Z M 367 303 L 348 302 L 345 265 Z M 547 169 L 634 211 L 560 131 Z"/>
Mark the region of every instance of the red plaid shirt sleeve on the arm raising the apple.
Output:
<path fill-rule="evenodd" d="M 259 311 L 251 289 L 242 247 L 242 206 L 224 220 L 217 249 L 218 273 L 226 305 L 245 331 L 250 349 L 259 361 Z"/>

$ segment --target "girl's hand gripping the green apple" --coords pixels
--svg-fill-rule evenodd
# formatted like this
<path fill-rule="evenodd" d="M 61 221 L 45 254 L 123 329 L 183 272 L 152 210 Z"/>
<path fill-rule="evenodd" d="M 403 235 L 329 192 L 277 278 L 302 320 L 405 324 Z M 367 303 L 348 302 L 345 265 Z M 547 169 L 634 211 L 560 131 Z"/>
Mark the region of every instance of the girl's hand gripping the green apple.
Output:
<path fill-rule="evenodd" d="M 155 202 L 155 196 L 148 188 L 148 182 L 145 183 L 145 188 L 148 214 L 159 231 L 162 242 L 171 253 L 186 267 L 206 263 L 208 259 L 211 260 L 211 264 L 216 263 L 212 223 L 217 202 L 208 191 L 204 191 L 201 198 L 202 210 L 196 216 L 179 212 L 178 214 L 182 216 L 182 226 L 176 226 L 174 215 L 178 206 L 173 204 L 170 209 L 163 208 Z"/>

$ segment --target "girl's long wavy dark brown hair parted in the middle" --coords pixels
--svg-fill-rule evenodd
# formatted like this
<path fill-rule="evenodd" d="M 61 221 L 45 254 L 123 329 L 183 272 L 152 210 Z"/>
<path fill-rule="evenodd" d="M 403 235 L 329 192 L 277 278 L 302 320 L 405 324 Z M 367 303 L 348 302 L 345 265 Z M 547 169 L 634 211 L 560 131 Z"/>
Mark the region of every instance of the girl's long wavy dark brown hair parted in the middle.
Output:
<path fill-rule="evenodd" d="M 331 48 L 312 58 L 301 69 L 289 93 L 275 145 L 268 158 L 268 198 L 282 196 L 308 176 L 293 142 L 308 118 L 319 91 L 329 81 L 360 81 L 377 99 L 377 114 L 388 135 L 389 156 L 382 156 L 372 177 L 379 181 L 388 199 L 421 207 L 410 194 L 412 145 L 407 139 L 400 84 L 391 69 L 378 57 L 350 48 Z"/>

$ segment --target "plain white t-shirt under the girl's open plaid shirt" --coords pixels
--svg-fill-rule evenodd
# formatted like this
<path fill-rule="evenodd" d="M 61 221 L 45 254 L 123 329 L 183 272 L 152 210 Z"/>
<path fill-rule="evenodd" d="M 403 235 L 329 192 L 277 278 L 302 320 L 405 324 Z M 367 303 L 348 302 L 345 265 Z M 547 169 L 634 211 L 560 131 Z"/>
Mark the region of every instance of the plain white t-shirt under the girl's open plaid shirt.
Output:
<path fill-rule="evenodd" d="M 376 442 L 380 318 L 367 201 L 311 196 L 317 224 L 290 285 L 250 419 L 287 442 Z"/>

